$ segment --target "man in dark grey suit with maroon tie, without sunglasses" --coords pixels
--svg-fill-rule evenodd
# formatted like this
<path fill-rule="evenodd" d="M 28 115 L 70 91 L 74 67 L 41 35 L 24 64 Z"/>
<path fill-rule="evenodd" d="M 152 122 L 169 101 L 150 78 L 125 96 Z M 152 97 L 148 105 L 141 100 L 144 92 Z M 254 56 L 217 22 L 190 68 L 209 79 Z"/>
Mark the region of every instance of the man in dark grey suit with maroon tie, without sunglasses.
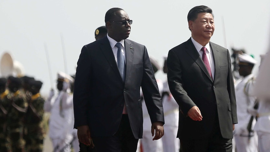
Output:
<path fill-rule="evenodd" d="M 179 105 L 184 152 L 231 151 L 237 123 L 229 51 L 210 42 L 212 9 L 196 6 L 188 13 L 191 38 L 168 53 L 168 83 Z"/>

